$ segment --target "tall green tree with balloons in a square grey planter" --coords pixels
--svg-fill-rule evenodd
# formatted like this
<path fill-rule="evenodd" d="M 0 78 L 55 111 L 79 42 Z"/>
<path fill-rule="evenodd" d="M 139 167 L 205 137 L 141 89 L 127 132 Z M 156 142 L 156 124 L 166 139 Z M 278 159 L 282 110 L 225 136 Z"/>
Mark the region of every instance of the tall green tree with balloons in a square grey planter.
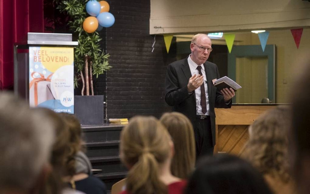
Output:
<path fill-rule="evenodd" d="M 108 12 L 106 1 L 54 0 L 54 3 L 56 9 L 69 16 L 69 29 L 78 41 L 74 49 L 74 87 L 82 84 L 82 89 L 81 96 L 75 96 L 75 115 L 82 124 L 102 124 L 104 96 L 94 96 L 93 76 L 98 78 L 111 66 L 109 54 L 101 48 L 102 38 L 97 31 L 112 26 L 114 16 Z"/>

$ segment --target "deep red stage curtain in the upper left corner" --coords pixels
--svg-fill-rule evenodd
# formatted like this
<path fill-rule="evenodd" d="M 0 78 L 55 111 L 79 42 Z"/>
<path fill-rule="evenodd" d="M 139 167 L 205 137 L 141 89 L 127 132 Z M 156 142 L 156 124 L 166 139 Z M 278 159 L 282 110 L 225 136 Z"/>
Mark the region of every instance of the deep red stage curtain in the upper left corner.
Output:
<path fill-rule="evenodd" d="M 0 86 L 14 85 L 14 43 L 28 32 L 44 32 L 43 0 L 0 0 Z M 2 83 L 2 84 L 1 84 Z"/>

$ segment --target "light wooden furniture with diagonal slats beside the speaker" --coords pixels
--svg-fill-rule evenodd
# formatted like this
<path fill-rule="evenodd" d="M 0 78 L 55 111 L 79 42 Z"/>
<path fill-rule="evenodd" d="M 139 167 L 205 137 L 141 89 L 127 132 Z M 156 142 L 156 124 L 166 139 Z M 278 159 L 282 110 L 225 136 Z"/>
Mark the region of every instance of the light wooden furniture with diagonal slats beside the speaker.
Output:
<path fill-rule="evenodd" d="M 241 155 L 249 139 L 248 127 L 263 112 L 274 108 L 270 105 L 232 105 L 230 109 L 215 109 L 216 145 L 214 153 L 225 152 Z"/>

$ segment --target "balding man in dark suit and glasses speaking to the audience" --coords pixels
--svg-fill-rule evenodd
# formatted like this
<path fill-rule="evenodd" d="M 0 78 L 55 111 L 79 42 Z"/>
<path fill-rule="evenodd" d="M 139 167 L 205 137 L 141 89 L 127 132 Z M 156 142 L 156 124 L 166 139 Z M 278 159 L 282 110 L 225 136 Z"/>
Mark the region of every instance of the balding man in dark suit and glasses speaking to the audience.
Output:
<path fill-rule="evenodd" d="M 232 88 L 217 91 L 214 79 L 219 71 L 214 63 L 206 61 L 212 51 L 206 34 L 196 34 L 190 45 L 191 54 L 168 65 L 166 74 L 166 103 L 192 121 L 196 157 L 212 155 L 215 145 L 214 108 L 230 108 L 235 96 Z"/>

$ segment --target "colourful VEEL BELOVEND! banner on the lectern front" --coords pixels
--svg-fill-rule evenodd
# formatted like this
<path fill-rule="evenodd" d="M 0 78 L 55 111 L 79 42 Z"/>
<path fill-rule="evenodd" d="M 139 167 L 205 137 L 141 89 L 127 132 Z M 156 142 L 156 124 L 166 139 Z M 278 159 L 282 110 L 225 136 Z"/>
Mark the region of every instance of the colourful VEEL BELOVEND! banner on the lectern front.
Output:
<path fill-rule="evenodd" d="M 74 113 L 73 47 L 29 46 L 29 104 Z"/>

